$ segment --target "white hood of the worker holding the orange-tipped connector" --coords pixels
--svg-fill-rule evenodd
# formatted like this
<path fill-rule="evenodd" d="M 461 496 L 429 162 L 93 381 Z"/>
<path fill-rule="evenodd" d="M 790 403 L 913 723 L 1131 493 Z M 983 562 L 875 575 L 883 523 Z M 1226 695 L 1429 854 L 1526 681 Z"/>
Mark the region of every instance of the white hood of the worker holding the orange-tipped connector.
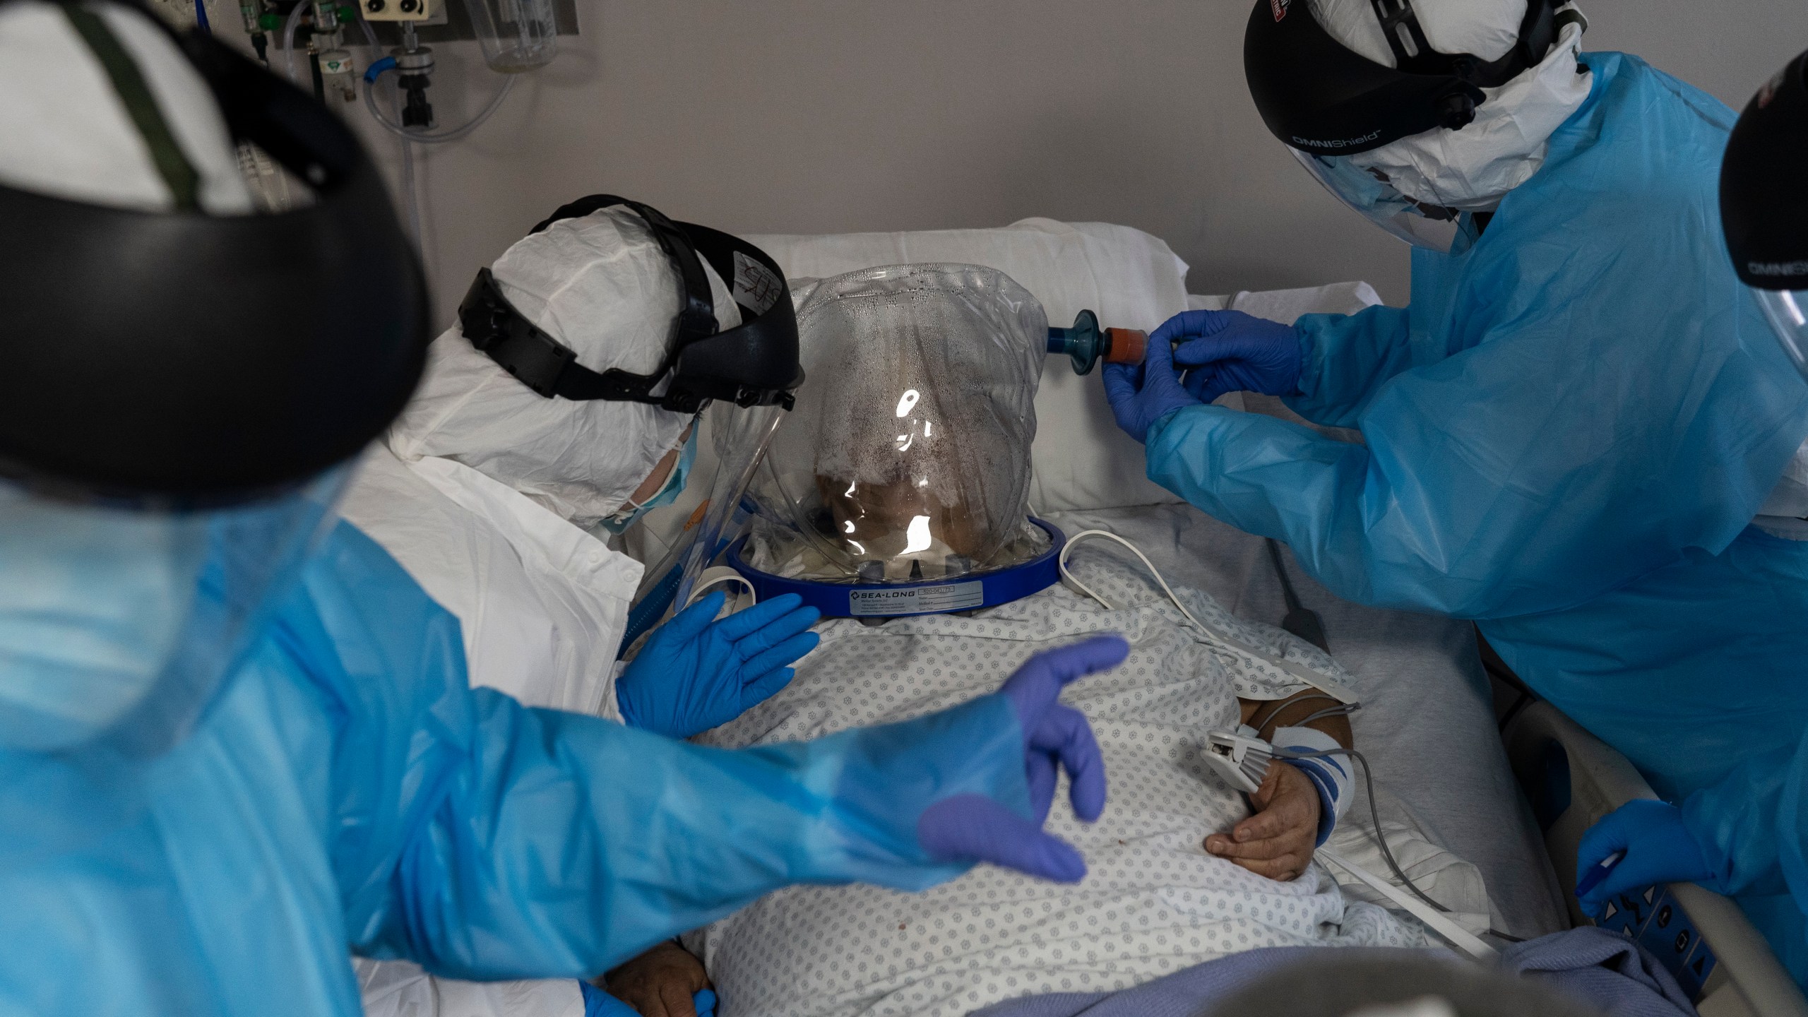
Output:
<path fill-rule="evenodd" d="M 1439 52 L 1499 60 L 1519 38 L 1526 0 L 1417 0 L 1427 42 Z M 1573 9 L 1573 5 L 1569 5 Z M 1394 67 L 1370 0 L 1313 0 L 1313 13 L 1338 42 Z M 1589 74 L 1577 72 L 1582 24 L 1568 24 L 1544 60 L 1499 89 L 1483 89 L 1475 121 L 1463 130 L 1434 128 L 1370 152 L 1349 156 L 1356 166 L 1387 174 L 1414 201 L 1486 212 L 1544 165 L 1551 132 L 1584 100 Z"/>

